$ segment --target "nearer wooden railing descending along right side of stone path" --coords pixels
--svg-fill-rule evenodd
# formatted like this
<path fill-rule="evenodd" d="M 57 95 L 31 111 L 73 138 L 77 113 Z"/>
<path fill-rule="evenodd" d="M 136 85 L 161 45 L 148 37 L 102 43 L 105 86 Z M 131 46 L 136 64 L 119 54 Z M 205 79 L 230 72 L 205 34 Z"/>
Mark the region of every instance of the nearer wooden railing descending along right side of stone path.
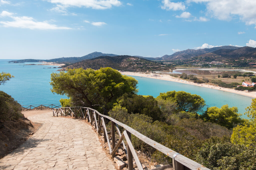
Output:
<path fill-rule="evenodd" d="M 135 163 L 139 170 L 143 170 L 142 164 L 140 163 L 140 160 L 138 159 L 138 156 L 133 148 L 132 142 L 131 142 L 131 134 L 142 140 L 143 142 L 147 143 L 151 147 L 157 149 L 158 151 L 164 153 L 165 155 L 172 158 L 172 165 L 164 165 L 157 169 L 165 169 L 165 168 L 171 168 L 173 167 L 174 170 L 187 170 L 187 169 L 195 169 L 195 170 L 206 170 L 206 168 L 203 165 L 200 165 L 199 163 L 173 151 L 172 149 L 169 149 L 160 143 L 157 143 L 156 141 L 142 135 L 141 133 L 137 132 L 136 130 L 132 129 L 131 127 L 113 119 L 112 117 L 103 115 L 99 113 L 97 110 L 87 108 L 87 107 L 67 107 L 67 108 L 57 108 L 52 109 L 53 116 L 58 116 L 59 114 L 61 116 L 72 116 L 72 117 L 81 117 L 82 119 L 87 119 L 88 122 L 91 123 L 91 125 L 95 126 L 95 129 L 97 130 L 98 134 L 101 134 L 101 131 L 104 133 L 104 142 L 108 143 L 109 147 L 109 153 L 114 157 L 116 155 L 116 150 L 118 147 L 122 144 L 123 150 L 125 152 L 125 156 L 128 161 L 128 169 L 133 170 L 133 159 L 135 160 Z M 111 131 L 107 132 L 106 129 L 106 119 L 111 121 Z M 123 127 L 125 130 L 121 134 L 119 130 L 119 126 Z M 116 130 L 115 130 L 116 129 Z M 117 143 L 115 142 L 115 134 L 118 134 L 119 140 Z M 110 143 L 109 135 L 112 139 L 112 146 Z M 126 140 L 126 146 L 124 143 L 124 139 Z"/>

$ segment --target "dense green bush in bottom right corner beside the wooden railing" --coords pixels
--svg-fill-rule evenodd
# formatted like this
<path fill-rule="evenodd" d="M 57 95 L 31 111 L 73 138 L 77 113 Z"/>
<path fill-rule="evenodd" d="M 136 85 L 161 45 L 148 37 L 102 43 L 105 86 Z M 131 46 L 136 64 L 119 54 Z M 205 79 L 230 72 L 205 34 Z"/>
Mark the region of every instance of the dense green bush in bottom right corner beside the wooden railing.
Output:
<path fill-rule="evenodd" d="M 229 138 L 212 138 L 200 148 L 196 161 L 210 169 L 255 169 L 256 149 L 233 145 Z"/>

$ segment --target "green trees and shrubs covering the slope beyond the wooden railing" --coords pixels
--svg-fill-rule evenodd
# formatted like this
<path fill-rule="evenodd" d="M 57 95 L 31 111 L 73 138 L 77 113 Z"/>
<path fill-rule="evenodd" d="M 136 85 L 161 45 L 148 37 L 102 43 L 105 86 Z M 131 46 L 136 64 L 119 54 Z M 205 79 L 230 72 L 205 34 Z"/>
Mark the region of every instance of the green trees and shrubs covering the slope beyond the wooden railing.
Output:
<path fill-rule="evenodd" d="M 101 76 L 95 76 L 91 69 L 84 72 L 89 71 L 92 72 L 91 76 L 83 75 L 81 69 L 52 74 L 53 89 L 58 89 L 59 94 L 72 97 L 68 102 L 62 100 L 63 104 L 85 107 L 91 104 L 141 134 L 211 169 L 256 168 L 256 99 L 247 108 L 249 121 L 241 119 L 237 108 L 229 108 L 228 105 L 222 108 L 210 107 L 203 112 L 204 99 L 185 91 L 169 91 L 161 93 L 157 98 L 137 95 L 136 90 L 128 93 L 123 91 L 115 93 L 115 98 L 103 106 L 103 101 L 113 95 L 117 84 L 122 84 L 113 79 L 120 73 L 111 68 L 100 69 Z M 69 75 L 69 72 L 73 74 Z M 104 84 L 106 77 L 112 77 L 111 85 Z M 59 83 L 56 84 L 57 79 Z M 96 85 L 92 88 L 88 83 Z M 135 81 L 130 87 L 134 89 L 136 84 Z M 103 104 L 93 103 L 93 97 L 102 99 L 100 102 Z M 133 135 L 132 143 L 135 149 L 143 151 L 155 162 L 172 162 L 169 157 Z"/>

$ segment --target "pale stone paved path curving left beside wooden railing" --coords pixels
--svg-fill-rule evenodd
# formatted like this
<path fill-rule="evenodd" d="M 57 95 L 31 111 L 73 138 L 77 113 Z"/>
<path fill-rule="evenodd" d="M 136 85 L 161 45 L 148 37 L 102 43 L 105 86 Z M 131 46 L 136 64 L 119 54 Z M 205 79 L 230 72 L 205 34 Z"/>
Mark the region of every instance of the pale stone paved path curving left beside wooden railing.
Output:
<path fill-rule="evenodd" d="M 115 169 L 87 123 L 52 117 L 52 112 L 28 119 L 43 125 L 0 160 L 0 169 Z"/>

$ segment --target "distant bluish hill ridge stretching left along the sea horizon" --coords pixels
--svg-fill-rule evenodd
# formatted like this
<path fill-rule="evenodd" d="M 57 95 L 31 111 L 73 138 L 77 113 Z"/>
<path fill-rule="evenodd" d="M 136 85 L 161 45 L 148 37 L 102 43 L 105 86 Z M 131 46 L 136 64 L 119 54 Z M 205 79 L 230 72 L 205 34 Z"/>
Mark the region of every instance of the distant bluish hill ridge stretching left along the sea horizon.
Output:
<path fill-rule="evenodd" d="M 91 59 L 91 58 L 95 58 L 95 57 L 99 57 L 99 56 L 118 56 L 115 54 L 104 54 L 104 53 L 100 53 L 100 52 L 93 52 L 90 54 L 87 54 L 85 56 L 82 57 L 61 57 L 61 58 L 54 58 L 54 59 L 50 59 L 50 60 L 35 60 L 35 59 L 23 59 L 23 60 L 13 60 L 13 61 L 8 61 L 8 62 L 56 62 L 56 63 L 75 63 L 75 62 L 79 62 L 85 59 Z"/>

